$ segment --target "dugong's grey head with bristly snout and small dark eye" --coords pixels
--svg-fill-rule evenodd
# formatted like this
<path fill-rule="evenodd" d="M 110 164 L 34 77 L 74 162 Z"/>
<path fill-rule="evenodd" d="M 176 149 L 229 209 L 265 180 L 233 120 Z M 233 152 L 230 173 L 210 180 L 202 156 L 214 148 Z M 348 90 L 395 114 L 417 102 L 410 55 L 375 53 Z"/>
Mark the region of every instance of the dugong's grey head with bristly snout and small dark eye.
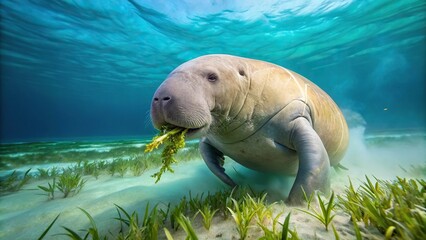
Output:
<path fill-rule="evenodd" d="M 183 63 L 159 86 L 151 104 L 155 128 L 188 128 L 200 137 L 229 118 L 249 87 L 248 65 L 242 58 L 206 55 Z"/>

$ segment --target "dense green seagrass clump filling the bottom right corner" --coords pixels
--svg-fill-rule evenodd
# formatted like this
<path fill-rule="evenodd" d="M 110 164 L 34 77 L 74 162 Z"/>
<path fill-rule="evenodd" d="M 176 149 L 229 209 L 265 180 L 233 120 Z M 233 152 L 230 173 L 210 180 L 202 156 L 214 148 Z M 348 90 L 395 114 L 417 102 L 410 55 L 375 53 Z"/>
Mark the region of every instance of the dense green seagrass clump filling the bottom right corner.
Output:
<path fill-rule="evenodd" d="M 350 182 L 339 200 L 353 221 L 376 227 L 387 239 L 426 239 L 425 194 L 424 179 L 398 177 L 392 182 L 376 179 L 373 183 L 366 177 L 357 190 Z"/>

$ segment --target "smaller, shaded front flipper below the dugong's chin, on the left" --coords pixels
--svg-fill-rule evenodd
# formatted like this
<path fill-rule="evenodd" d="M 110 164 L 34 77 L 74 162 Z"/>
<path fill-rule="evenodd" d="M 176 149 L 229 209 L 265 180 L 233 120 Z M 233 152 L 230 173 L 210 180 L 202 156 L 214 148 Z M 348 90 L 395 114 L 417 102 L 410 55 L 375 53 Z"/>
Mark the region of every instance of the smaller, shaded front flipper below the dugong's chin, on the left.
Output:
<path fill-rule="evenodd" d="M 223 168 L 223 153 L 213 147 L 206 138 L 200 141 L 200 152 L 207 167 L 209 167 L 214 175 L 231 187 L 237 186 L 237 184 L 225 173 L 225 168 Z"/>

